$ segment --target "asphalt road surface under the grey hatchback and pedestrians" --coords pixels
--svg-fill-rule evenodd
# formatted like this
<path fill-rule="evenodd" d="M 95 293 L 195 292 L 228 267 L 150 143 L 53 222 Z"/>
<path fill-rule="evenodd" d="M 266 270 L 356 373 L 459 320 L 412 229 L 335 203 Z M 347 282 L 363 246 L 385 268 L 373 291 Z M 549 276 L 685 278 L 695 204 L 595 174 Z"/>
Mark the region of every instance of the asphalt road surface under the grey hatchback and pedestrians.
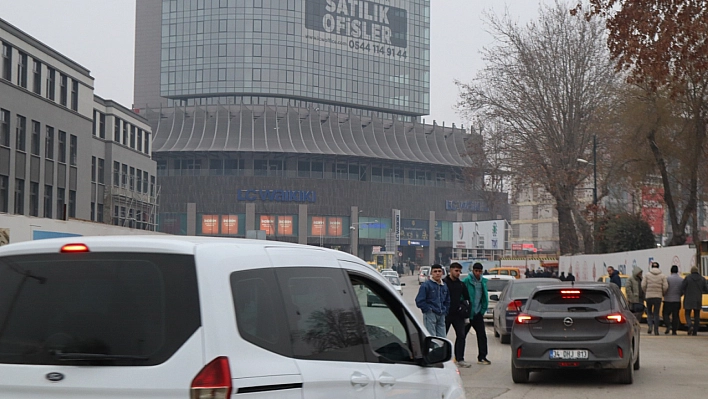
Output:
<path fill-rule="evenodd" d="M 414 309 L 419 320 L 420 311 L 415 307 L 418 293 L 416 276 L 404 276 L 401 281 L 403 298 Z M 416 312 L 417 311 L 417 312 Z M 484 366 L 477 359 L 477 340 L 474 330 L 467 336 L 465 359 L 471 368 L 460 369 L 468 399 L 483 398 L 602 398 L 632 397 L 638 399 L 688 399 L 704 397 L 708 391 L 708 331 L 696 337 L 679 331 L 677 336 L 647 335 L 642 325 L 641 369 L 634 373 L 634 384 L 618 384 L 613 373 L 597 371 L 564 371 L 531 373 L 528 384 L 511 381 L 511 349 L 494 338 L 491 324 L 487 326 L 487 340 L 491 365 Z M 450 329 L 448 339 L 454 342 L 455 332 Z M 631 395 L 631 396 L 627 396 Z"/>

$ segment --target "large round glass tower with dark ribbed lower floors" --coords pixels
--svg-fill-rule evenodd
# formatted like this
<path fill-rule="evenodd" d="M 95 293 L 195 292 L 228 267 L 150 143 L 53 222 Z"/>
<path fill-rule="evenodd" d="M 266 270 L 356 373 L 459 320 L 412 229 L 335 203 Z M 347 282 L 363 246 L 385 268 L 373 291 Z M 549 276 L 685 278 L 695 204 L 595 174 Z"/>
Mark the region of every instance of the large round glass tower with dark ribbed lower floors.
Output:
<path fill-rule="evenodd" d="M 136 15 L 161 231 L 430 264 L 451 257 L 452 222 L 508 218 L 462 178 L 479 137 L 421 121 L 429 0 L 152 0 Z"/>

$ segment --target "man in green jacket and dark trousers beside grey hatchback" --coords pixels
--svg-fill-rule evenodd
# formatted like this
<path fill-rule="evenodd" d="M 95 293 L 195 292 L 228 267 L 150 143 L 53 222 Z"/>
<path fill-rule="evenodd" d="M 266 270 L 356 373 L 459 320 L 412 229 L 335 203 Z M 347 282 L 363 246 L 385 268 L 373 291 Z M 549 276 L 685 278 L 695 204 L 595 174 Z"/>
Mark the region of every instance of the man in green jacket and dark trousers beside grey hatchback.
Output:
<path fill-rule="evenodd" d="M 468 274 L 463 282 L 467 287 L 471 302 L 470 324 L 477 335 L 477 363 L 487 365 L 492 364 L 492 362 L 487 359 L 487 333 L 484 328 L 484 312 L 487 311 L 489 297 L 487 279 L 482 277 L 483 269 L 484 266 L 476 262 L 472 265 L 472 273 Z"/>

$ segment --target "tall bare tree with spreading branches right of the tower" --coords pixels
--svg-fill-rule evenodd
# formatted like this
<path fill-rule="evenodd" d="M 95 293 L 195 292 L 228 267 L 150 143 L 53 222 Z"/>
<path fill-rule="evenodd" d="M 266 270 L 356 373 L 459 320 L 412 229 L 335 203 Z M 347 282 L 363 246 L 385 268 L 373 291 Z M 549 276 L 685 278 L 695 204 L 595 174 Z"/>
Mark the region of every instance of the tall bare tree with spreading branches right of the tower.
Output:
<path fill-rule="evenodd" d="M 593 134 L 598 143 L 606 136 L 603 109 L 617 81 L 604 26 L 572 17 L 561 2 L 542 5 L 525 26 L 508 15 L 487 22 L 496 42 L 482 51 L 486 66 L 477 77 L 457 82 L 458 108 L 504 127 L 497 132 L 506 170 L 553 196 L 561 253 L 577 253 L 576 189 L 587 178 L 577 160 L 592 151 Z"/>

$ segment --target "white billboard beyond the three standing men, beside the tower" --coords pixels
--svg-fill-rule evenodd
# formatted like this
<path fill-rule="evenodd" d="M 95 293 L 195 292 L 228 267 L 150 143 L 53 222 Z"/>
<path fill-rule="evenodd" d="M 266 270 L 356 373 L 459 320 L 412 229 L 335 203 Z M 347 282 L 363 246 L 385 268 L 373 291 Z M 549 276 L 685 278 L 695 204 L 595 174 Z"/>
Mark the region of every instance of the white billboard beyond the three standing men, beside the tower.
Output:
<path fill-rule="evenodd" d="M 452 224 L 453 245 L 460 249 L 505 249 L 506 221 L 455 222 Z"/>

